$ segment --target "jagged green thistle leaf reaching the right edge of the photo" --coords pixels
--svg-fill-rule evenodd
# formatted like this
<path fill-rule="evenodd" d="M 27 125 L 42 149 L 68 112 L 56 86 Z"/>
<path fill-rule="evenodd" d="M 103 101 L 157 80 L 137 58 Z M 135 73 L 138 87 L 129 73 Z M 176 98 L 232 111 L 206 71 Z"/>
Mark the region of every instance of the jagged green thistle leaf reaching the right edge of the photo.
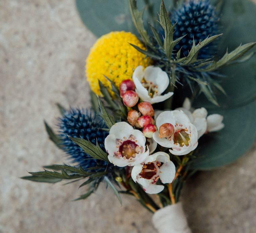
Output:
<path fill-rule="evenodd" d="M 256 42 L 247 43 L 245 45 L 240 45 L 236 49 L 234 49 L 232 52 L 228 53 L 228 51 L 225 53 L 225 55 L 219 60 L 211 65 L 207 66 L 205 69 L 201 69 L 203 72 L 209 72 L 214 71 L 224 65 L 228 65 L 230 62 L 242 57 L 247 51 L 249 51 L 251 48 L 253 48 L 256 45 Z M 253 54 L 249 55 L 249 58 L 251 58 Z M 245 61 L 249 59 L 248 57 L 245 58 Z"/>

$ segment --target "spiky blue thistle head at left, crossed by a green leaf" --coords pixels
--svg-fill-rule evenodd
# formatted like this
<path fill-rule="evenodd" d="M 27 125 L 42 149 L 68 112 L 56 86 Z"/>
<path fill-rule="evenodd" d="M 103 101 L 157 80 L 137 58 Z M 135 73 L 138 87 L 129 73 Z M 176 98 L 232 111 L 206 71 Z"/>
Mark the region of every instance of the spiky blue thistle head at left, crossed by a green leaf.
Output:
<path fill-rule="evenodd" d="M 101 149 L 105 151 L 104 140 L 108 132 L 102 130 L 107 127 L 100 116 L 96 116 L 90 110 L 70 109 L 59 118 L 58 126 L 63 149 L 71 156 L 73 162 L 78 162 L 83 168 L 106 165 L 102 160 L 88 159 L 91 158 L 90 155 L 68 137 L 84 138 L 93 144 L 96 144 L 97 140 Z"/>

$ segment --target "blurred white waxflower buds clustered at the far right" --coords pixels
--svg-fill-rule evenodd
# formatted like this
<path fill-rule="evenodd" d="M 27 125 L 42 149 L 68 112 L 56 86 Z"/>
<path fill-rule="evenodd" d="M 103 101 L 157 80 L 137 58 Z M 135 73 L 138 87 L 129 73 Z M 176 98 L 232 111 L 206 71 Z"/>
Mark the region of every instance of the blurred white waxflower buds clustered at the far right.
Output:
<path fill-rule="evenodd" d="M 185 99 L 182 108 L 177 108 L 176 110 L 182 110 L 189 117 L 190 121 L 197 128 L 198 138 L 200 138 L 204 133 L 218 131 L 224 127 L 224 124 L 222 123 L 223 116 L 219 114 L 207 116 L 208 113 L 205 108 L 193 111 L 188 98 Z"/>

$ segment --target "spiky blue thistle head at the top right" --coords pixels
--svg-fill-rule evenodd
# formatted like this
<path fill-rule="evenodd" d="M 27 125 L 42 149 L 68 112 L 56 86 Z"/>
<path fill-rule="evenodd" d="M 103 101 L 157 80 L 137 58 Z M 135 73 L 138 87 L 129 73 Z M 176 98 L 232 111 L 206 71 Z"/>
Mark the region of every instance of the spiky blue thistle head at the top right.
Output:
<path fill-rule="evenodd" d="M 175 27 L 174 39 L 186 35 L 176 46 L 178 52 L 181 49 L 181 55 L 187 56 L 192 48 L 193 38 L 197 45 L 208 36 L 214 36 L 218 33 L 218 14 L 209 0 L 189 0 L 181 5 L 180 8 L 172 13 L 172 21 L 177 22 Z M 214 55 L 211 49 L 212 45 L 202 48 L 198 58 L 206 59 Z"/>

